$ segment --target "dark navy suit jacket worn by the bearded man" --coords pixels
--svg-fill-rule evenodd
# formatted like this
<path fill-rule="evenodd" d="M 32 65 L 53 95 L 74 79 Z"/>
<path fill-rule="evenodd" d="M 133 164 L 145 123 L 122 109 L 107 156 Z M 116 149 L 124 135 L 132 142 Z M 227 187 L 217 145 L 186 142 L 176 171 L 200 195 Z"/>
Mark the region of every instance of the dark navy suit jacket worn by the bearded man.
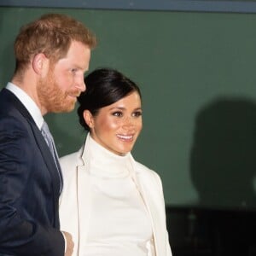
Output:
<path fill-rule="evenodd" d="M 38 126 L 9 90 L 0 92 L 0 255 L 62 256 L 60 177 Z"/>

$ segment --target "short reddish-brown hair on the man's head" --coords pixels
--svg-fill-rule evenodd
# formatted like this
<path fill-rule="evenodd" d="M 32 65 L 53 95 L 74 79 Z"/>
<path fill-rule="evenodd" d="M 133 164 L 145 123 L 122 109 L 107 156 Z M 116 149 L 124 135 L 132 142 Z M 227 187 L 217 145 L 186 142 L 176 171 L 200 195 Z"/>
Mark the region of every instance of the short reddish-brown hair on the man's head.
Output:
<path fill-rule="evenodd" d="M 67 15 L 47 14 L 22 26 L 15 40 L 15 73 L 23 73 L 38 53 L 44 53 L 55 63 L 67 55 L 73 41 L 90 49 L 96 47 L 95 35 L 82 22 Z"/>

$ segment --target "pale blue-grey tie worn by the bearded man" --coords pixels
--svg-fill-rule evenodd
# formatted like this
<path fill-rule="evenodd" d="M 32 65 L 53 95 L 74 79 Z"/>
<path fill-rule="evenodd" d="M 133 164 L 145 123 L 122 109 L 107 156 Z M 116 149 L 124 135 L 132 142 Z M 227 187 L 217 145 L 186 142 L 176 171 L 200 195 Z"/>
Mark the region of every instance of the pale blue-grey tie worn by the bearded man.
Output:
<path fill-rule="evenodd" d="M 46 124 L 46 122 L 44 121 L 44 124 L 42 125 L 42 128 L 41 128 L 41 132 L 42 132 L 42 135 L 44 137 L 44 140 L 45 142 L 47 143 L 48 147 L 49 147 L 49 151 L 50 153 L 52 154 L 54 160 L 55 160 L 55 166 L 58 170 L 58 174 L 59 174 L 59 177 L 60 177 L 60 181 L 61 181 L 61 170 L 59 168 L 59 157 L 58 157 L 58 154 L 57 154 L 57 150 L 55 148 L 55 142 L 54 142 L 54 139 L 49 131 L 49 127 L 48 125 Z M 62 187 L 62 183 L 61 183 L 61 187 Z M 60 189 L 61 191 L 61 189 Z"/>

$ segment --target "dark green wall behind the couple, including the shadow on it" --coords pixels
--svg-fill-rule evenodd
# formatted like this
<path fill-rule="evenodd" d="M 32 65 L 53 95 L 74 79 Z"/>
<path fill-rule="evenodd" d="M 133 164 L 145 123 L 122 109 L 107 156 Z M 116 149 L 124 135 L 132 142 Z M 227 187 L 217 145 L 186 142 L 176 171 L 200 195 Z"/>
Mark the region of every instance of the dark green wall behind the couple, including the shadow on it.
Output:
<path fill-rule="evenodd" d="M 98 37 L 90 70 L 140 84 L 143 133 L 134 156 L 163 179 L 168 205 L 256 207 L 256 15 L 0 8 L 0 85 L 19 27 L 48 12 Z M 76 113 L 49 114 L 61 155 L 84 140 Z"/>

